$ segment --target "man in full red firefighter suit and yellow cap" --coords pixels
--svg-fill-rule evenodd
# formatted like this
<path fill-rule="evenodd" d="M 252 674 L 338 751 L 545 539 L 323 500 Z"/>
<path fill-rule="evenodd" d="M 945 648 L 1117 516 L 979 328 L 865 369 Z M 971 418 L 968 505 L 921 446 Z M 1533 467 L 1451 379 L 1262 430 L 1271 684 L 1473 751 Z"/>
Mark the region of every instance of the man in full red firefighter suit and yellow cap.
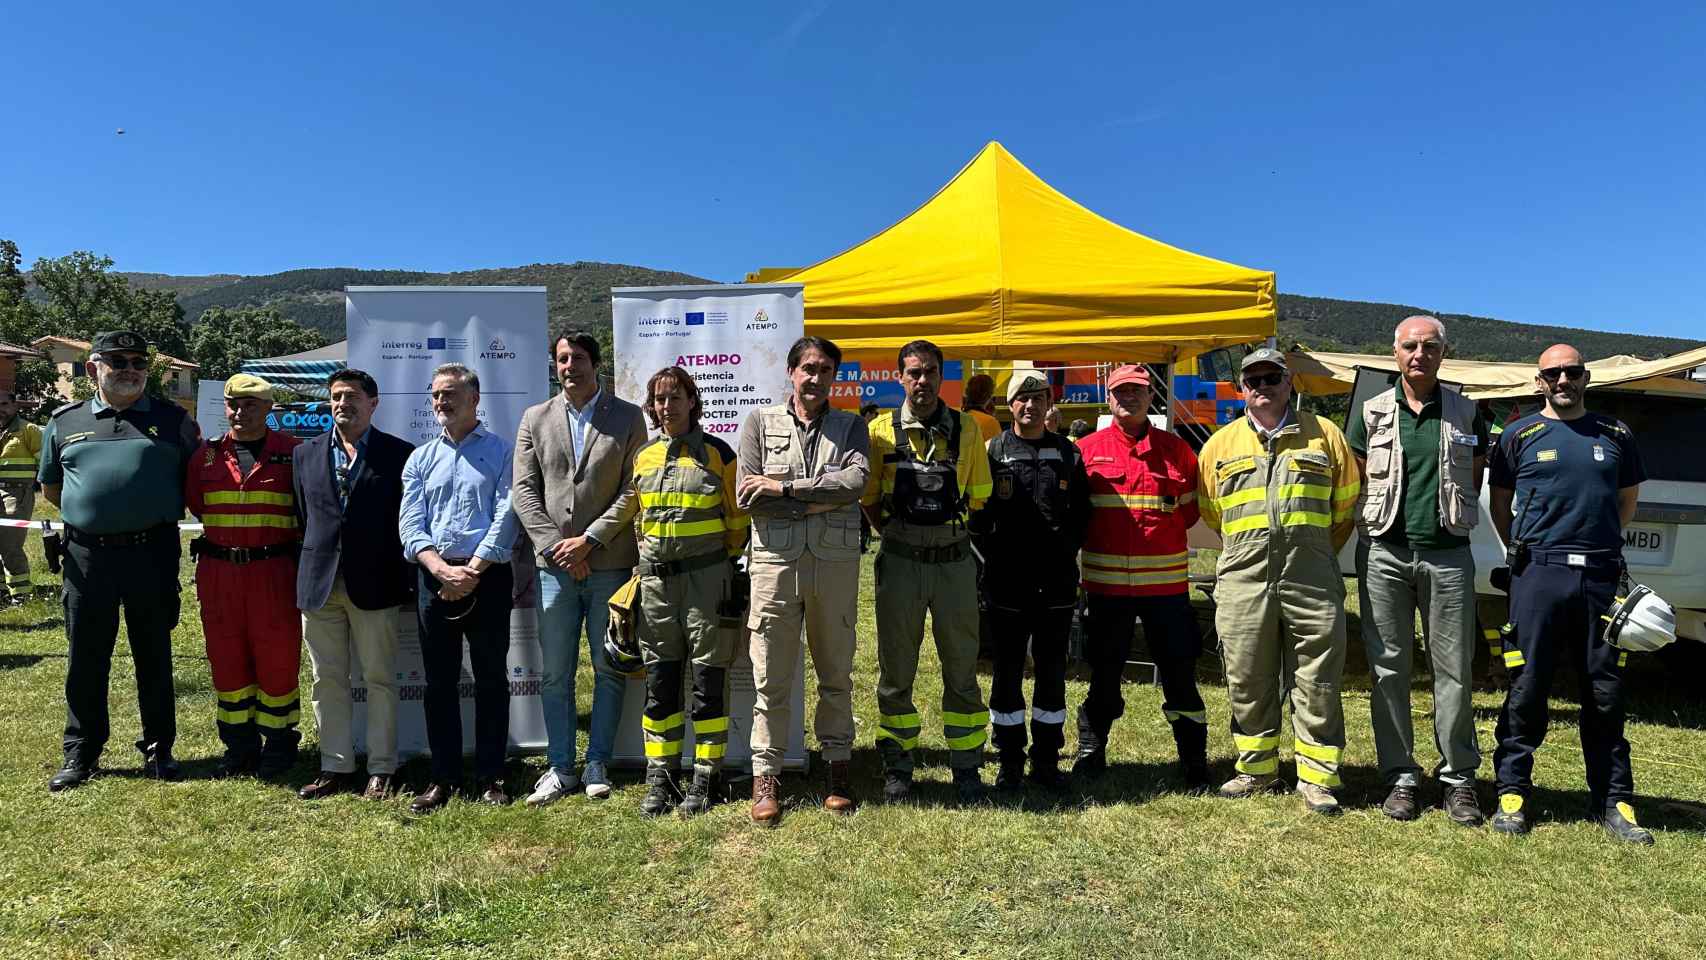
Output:
<path fill-rule="evenodd" d="M 302 532 L 290 474 L 299 440 L 266 428 L 271 409 L 266 380 L 249 373 L 225 380 L 230 431 L 201 443 L 184 479 L 184 505 L 205 525 L 189 552 L 225 743 L 220 776 L 281 776 L 302 737 L 295 602 Z"/>

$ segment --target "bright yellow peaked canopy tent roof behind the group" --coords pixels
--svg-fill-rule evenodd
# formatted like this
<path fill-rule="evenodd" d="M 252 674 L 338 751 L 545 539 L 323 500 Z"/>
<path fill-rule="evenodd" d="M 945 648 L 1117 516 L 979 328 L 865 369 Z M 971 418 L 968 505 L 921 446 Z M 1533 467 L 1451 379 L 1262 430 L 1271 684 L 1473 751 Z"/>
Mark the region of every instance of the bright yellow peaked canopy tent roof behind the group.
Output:
<path fill-rule="evenodd" d="M 918 338 L 967 360 L 1160 363 L 1274 333 L 1273 273 L 1112 223 L 995 142 L 863 244 L 747 281 L 804 283 L 809 333 L 891 363 Z"/>

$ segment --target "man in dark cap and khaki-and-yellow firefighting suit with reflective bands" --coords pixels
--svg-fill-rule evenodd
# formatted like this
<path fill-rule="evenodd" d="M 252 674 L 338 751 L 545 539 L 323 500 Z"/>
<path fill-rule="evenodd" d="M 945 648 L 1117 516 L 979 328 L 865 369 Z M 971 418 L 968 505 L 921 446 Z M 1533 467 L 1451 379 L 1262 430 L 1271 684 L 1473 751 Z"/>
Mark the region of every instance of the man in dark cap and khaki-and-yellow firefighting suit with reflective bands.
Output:
<path fill-rule="evenodd" d="M 1247 416 L 1221 426 L 1198 459 L 1203 522 L 1221 535 L 1215 629 L 1227 656 L 1227 706 L 1239 774 L 1221 796 L 1280 786 L 1280 691 L 1291 689 L 1297 793 L 1338 813 L 1344 752 L 1344 578 L 1360 479 L 1339 428 L 1293 411 L 1285 355 L 1262 348 L 1240 370 Z"/>

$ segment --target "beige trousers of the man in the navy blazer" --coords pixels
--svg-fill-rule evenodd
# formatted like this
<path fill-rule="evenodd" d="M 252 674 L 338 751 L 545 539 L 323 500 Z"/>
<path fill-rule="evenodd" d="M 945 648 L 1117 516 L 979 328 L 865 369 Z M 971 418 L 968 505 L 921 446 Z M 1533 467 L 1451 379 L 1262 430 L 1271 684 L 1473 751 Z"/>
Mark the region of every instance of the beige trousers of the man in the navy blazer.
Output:
<path fill-rule="evenodd" d="M 367 772 L 397 772 L 397 610 L 363 610 L 343 590 L 343 575 L 317 610 L 304 610 L 302 638 L 314 665 L 314 726 L 319 728 L 321 769 L 355 772 L 350 732 L 350 653 L 362 660 L 367 684 Z"/>

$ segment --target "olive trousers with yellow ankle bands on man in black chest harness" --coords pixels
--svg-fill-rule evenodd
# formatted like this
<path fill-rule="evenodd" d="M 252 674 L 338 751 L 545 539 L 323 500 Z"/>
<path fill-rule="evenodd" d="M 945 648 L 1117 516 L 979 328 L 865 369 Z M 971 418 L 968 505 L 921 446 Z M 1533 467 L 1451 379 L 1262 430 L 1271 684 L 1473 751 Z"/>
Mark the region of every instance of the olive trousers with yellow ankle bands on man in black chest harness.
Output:
<path fill-rule="evenodd" d="M 923 730 L 913 682 L 926 610 L 942 660 L 949 767 L 976 769 L 989 737 L 989 711 L 978 687 L 978 564 L 969 549 L 952 563 L 923 563 L 894 551 L 877 554 L 877 750 L 884 769 L 913 769 Z"/>

